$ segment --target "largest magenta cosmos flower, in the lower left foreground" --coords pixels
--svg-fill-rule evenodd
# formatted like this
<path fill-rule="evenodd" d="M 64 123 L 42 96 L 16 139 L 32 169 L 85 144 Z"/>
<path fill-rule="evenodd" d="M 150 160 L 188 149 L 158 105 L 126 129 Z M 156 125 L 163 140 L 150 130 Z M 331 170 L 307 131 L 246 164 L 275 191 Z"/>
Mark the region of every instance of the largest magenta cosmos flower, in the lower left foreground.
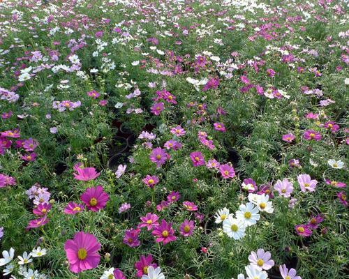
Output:
<path fill-rule="evenodd" d="M 100 249 L 101 244 L 93 234 L 77 232 L 64 243 L 70 271 L 80 273 L 96 268 L 101 260 Z"/>

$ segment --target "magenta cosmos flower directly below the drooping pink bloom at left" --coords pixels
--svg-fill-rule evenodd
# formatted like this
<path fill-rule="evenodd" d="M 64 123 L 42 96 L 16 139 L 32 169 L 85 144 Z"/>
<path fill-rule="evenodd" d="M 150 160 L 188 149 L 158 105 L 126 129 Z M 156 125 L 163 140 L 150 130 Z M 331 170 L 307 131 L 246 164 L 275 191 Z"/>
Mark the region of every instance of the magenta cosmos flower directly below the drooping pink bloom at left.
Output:
<path fill-rule="evenodd" d="M 109 200 L 109 195 L 104 192 L 101 185 L 98 185 L 87 188 L 80 196 L 80 199 L 86 204 L 87 209 L 96 212 L 99 209 L 104 209 L 105 204 Z"/>

